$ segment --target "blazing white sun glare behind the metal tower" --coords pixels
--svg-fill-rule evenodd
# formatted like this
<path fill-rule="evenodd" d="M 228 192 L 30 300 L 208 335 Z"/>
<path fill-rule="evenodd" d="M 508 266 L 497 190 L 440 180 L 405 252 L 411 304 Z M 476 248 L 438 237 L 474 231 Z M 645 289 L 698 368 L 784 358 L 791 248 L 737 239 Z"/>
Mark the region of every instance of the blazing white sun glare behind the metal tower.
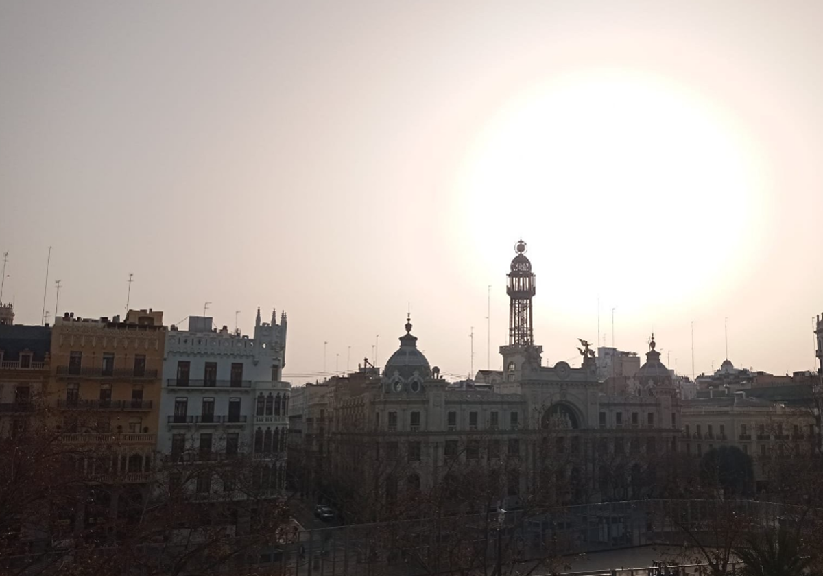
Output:
<path fill-rule="evenodd" d="M 593 71 L 537 86 L 493 114 L 458 174 L 472 252 L 497 260 L 476 265 L 500 267 L 500 243 L 523 235 L 540 246 L 537 272 L 588 254 L 593 291 L 613 302 L 700 298 L 720 267 L 745 264 L 762 213 L 747 142 L 718 109 L 654 78 Z M 655 288 L 664 272 L 670 286 L 637 294 L 644 267 Z M 556 294 L 573 309 L 591 296 L 574 278 Z"/>

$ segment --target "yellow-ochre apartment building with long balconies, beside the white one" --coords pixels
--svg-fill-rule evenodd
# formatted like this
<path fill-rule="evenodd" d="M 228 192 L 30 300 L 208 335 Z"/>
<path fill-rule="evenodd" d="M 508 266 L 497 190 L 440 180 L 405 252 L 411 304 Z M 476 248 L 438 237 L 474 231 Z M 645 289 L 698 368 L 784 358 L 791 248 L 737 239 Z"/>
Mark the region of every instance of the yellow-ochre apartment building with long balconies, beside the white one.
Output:
<path fill-rule="evenodd" d="M 151 309 L 54 322 L 49 399 L 63 441 L 94 447 L 83 464 L 90 480 L 151 480 L 164 348 L 163 313 Z"/>

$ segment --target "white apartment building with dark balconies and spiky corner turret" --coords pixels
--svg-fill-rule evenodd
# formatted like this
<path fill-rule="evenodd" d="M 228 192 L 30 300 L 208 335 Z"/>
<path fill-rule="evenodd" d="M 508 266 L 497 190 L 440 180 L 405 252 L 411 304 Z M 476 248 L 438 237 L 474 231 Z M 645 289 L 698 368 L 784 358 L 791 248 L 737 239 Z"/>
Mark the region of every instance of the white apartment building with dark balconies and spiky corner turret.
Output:
<path fill-rule="evenodd" d="M 286 479 L 291 384 L 286 364 L 286 314 L 261 323 L 253 338 L 212 327 L 191 316 L 188 330 L 171 327 L 165 342 L 158 449 L 166 462 L 213 462 L 251 454 L 259 460 L 258 486 L 277 492 Z M 198 479 L 200 494 L 230 486 Z"/>

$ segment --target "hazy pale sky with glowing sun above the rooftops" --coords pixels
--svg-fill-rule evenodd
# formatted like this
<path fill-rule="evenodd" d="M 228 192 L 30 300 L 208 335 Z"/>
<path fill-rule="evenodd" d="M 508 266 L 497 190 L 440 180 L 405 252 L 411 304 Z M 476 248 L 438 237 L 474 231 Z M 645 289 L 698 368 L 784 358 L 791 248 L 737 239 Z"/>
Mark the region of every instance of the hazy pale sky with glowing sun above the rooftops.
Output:
<path fill-rule="evenodd" d="M 810 369 L 823 2 L 0 2 L 3 300 L 289 317 L 286 377 L 506 343 L 520 236 L 576 337 Z M 291 375 L 291 376 L 290 376 Z"/>

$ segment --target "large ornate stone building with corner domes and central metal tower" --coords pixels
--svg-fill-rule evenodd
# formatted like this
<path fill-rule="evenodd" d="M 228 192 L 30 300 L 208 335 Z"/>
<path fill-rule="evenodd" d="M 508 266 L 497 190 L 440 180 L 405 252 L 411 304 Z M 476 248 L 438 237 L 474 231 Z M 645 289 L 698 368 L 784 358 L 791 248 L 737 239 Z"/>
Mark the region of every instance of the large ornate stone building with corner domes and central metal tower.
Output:
<path fill-rule="evenodd" d="M 580 342 L 581 367 L 543 366 L 542 346 L 533 341 L 535 285 L 525 251 L 518 243 L 509 269 L 502 371 L 481 370 L 473 383 L 446 383 L 417 347 L 409 318 L 381 376 L 356 373 L 327 382 L 313 416 L 325 402 L 314 475 L 319 494 L 334 499 L 369 490 L 362 505 L 379 520 L 402 495 L 450 485 L 455 467 L 479 466 L 491 474 L 495 502 L 505 509 L 544 489 L 566 503 L 647 494 L 653 482 L 640 473 L 638 458 L 676 451 L 681 438 L 670 371 L 653 339 L 642 367 L 636 355 L 619 357 L 621 373 L 636 378 L 630 394 L 601 393 L 597 357 L 586 341 Z M 303 441 L 316 443 L 307 421 L 313 408 L 304 406 Z M 319 426 L 314 430 L 320 433 Z"/>

